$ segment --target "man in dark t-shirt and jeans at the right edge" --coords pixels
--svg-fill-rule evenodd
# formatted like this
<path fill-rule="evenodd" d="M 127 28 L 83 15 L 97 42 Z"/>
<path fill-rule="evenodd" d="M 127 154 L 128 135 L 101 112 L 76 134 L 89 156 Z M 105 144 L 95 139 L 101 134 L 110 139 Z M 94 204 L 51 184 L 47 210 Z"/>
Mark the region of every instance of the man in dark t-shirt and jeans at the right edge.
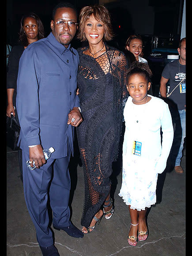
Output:
<path fill-rule="evenodd" d="M 169 104 L 169 109 L 171 112 L 173 127 L 174 127 L 174 138 L 171 150 L 171 157 L 174 164 L 174 169 L 177 173 L 183 173 L 183 168 L 181 167 L 182 150 L 185 138 L 185 78 L 186 78 L 186 38 L 182 38 L 179 42 L 178 53 L 180 55 L 179 60 L 174 60 L 168 63 L 163 72 L 160 82 L 160 93 L 161 96 L 166 98 L 166 83 L 169 81 L 169 94 L 177 86 L 173 93 L 169 96 L 172 101 Z M 173 105 L 175 103 L 175 105 Z"/>

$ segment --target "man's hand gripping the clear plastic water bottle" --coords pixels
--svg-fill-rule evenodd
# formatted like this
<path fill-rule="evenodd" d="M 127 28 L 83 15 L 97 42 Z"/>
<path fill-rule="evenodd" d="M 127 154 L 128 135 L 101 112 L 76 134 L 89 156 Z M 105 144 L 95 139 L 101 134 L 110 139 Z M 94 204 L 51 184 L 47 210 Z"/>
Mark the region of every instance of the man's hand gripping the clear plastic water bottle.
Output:
<path fill-rule="evenodd" d="M 40 166 L 43 166 L 46 163 L 43 149 L 40 144 L 29 148 L 29 159 L 31 167 L 33 167 L 33 161 L 35 161 L 35 166 L 37 168 L 40 168 Z"/>

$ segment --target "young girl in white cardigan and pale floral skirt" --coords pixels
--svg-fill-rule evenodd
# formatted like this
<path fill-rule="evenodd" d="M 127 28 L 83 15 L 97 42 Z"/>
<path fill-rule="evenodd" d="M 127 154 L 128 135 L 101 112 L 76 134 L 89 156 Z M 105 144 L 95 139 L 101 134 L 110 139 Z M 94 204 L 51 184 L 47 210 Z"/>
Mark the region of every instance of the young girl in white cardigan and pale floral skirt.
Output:
<path fill-rule="evenodd" d="M 128 205 L 131 228 L 128 243 L 147 239 L 146 211 L 156 203 L 158 173 L 166 168 L 173 142 L 168 105 L 147 95 L 152 72 L 147 64 L 133 62 L 127 74 L 128 100 L 124 107 L 122 185 L 119 196 Z M 162 142 L 161 133 L 162 129 Z"/>

